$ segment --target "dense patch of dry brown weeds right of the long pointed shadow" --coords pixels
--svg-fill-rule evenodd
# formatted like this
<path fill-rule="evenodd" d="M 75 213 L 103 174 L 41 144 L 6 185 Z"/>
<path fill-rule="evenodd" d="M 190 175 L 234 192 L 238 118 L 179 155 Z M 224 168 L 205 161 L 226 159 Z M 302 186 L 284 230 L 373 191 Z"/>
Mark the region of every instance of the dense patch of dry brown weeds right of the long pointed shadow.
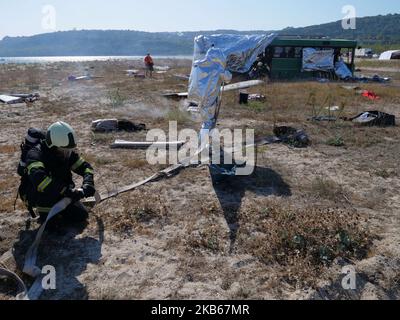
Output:
<path fill-rule="evenodd" d="M 373 238 L 361 217 L 339 209 L 254 204 L 242 210 L 238 250 L 267 265 L 284 266 L 283 276 L 293 285 L 315 285 L 315 274 L 327 271 L 335 259 L 368 255 Z"/>

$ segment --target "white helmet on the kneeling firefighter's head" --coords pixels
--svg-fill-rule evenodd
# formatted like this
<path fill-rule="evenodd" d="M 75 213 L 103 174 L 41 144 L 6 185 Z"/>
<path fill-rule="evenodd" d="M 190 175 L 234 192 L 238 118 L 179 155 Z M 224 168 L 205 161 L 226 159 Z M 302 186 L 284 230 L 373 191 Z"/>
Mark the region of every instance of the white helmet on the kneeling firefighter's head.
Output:
<path fill-rule="evenodd" d="M 76 148 L 76 134 L 74 129 L 65 122 L 53 123 L 47 130 L 46 143 L 49 148 Z"/>

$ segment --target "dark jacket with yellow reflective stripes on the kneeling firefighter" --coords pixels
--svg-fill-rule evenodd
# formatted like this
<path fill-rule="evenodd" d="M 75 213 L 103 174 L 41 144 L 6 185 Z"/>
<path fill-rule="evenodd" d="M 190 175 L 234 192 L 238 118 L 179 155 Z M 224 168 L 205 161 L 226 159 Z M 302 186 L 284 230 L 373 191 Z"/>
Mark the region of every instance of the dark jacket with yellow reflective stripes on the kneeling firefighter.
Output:
<path fill-rule="evenodd" d="M 72 172 L 83 177 L 83 185 L 94 187 L 93 168 L 76 152 L 65 156 L 49 149 L 43 141 L 32 148 L 26 159 L 28 204 L 39 213 L 48 213 L 69 188 L 75 188 Z"/>

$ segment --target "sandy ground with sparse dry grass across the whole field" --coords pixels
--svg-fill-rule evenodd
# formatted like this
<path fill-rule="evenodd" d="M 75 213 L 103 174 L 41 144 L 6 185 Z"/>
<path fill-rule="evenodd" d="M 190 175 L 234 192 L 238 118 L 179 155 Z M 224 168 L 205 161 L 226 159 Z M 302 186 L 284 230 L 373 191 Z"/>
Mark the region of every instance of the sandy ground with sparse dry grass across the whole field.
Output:
<path fill-rule="evenodd" d="M 92 120 L 126 118 L 148 129 L 177 120 L 180 128 L 199 128 L 183 102 L 161 95 L 186 90 L 173 74 L 187 73 L 190 63 L 157 63 L 172 69 L 152 80 L 124 73 L 137 62 L 1 66 L 1 92 L 40 92 L 42 99 L 0 105 L 0 255 L 14 247 L 21 260 L 38 228 L 27 226 L 20 202 L 13 208 L 28 127 L 71 123 L 101 192 L 163 166 L 149 165 L 144 151 L 109 148 L 116 138 L 144 140 L 145 132 L 93 134 Z M 85 70 L 104 78 L 66 80 Z M 187 169 L 102 203 L 83 231 L 46 234 L 39 265 L 56 267 L 57 289 L 42 299 L 399 299 L 400 130 L 307 121 L 313 107 L 328 105 L 341 105 L 346 116 L 380 110 L 400 117 L 399 82 L 357 84 L 378 101 L 342 85 L 269 83 L 250 90 L 267 101 L 249 106 L 237 103 L 237 93 L 225 94 L 220 128 L 254 128 L 263 137 L 274 124 L 291 125 L 304 129 L 312 145 L 260 147 L 252 176 L 219 184 L 206 166 Z M 345 249 L 343 232 L 350 238 Z M 347 265 L 357 272 L 356 290 L 341 286 Z M 11 298 L 11 288 L 0 280 L 0 297 Z"/>

